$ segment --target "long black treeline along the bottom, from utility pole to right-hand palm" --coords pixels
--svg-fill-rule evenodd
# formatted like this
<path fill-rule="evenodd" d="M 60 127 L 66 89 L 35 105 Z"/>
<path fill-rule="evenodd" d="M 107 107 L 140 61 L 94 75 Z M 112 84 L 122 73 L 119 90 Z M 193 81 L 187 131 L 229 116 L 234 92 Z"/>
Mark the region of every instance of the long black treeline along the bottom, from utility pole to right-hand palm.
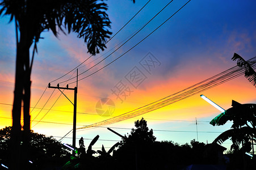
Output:
<path fill-rule="evenodd" d="M 97 140 L 98 136 L 91 144 Z M 87 152 L 80 147 L 77 157 L 72 158 L 62 169 L 186 169 L 191 164 L 204 164 L 207 167 L 207 164 L 224 164 L 221 155 L 226 150 L 217 143 L 205 145 L 195 139 L 184 145 L 156 141 L 153 130 L 149 130 L 144 118 L 135 121 L 135 129 L 120 143 L 117 142 L 108 151 L 102 145 L 97 157 L 92 155 L 95 152 L 92 150 L 93 145 L 89 145 Z M 119 148 L 115 150 L 117 146 Z"/>

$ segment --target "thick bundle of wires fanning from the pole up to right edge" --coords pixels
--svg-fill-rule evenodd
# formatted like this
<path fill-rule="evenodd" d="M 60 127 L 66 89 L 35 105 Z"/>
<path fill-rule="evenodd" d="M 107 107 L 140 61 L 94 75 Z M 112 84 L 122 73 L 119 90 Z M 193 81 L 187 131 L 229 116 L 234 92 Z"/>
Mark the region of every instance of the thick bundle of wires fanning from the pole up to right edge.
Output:
<path fill-rule="evenodd" d="M 251 65 L 251 67 L 255 68 L 256 67 L 256 65 L 255 65 L 256 57 L 249 59 L 249 62 L 251 62 L 251 61 L 254 62 L 254 64 Z M 220 84 L 223 84 L 223 83 L 227 82 L 228 80 L 237 78 L 238 76 L 241 76 L 242 74 L 244 74 L 244 70 L 245 70 L 245 68 L 243 68 L 243 67 L 234 66 L 228 70 L 223 71 L 220 74 L 217 74 L 215 76 L 212 76 L 211 78 L 203 80 L 200 83 L 194 84 L 193 86 L 190 86 L 182 91 L 179 91 L 175 94 L 166 96 L 163 99 L 154 101 L 153 103 L 144 105 L 143 107 L 137 108 L 133 111 L 120 114 L 119 116 L 109 118 L 107 120 L 97 122 L 95 124 L 87 125 L 83 128 L 78 128 L 78 129 L 87 129 L 87 128 L 92 128 L 92 127 L 97 127 L 97 126 L 110 125 L 110 124 L 114 124 L 119 121 L 127 120 L 128 118 L 132 118 L 132 117 L 140 116 L 141 114 L 152 112 L 156 109 L 165 107 L 165 106 L 173 104 L 177 101 L 186 99 L 187 97 L 198 94 L 199 92 L 208 90 L 209 88 L 219 86 Z"/>

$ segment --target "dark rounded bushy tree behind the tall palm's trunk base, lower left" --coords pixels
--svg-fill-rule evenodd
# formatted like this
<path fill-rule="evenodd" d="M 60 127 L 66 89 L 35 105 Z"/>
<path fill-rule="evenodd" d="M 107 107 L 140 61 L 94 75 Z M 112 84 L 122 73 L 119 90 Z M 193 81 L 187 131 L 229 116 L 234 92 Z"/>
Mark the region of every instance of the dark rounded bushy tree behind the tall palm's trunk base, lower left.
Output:
<path fill-rule="evenodd" d="M 22 130 L 22 133 L 24 131 Z M 10 146 L 11 138 L 11 126 L 5 127 L 0 130 L 0 162 L 10 167 L 10 163 L 7 162 L 9 155 L 8 148 Z M 53 137 L 46 137 L 43 134 L 34 133 L 31 130 L 31 140 L 29 143 L 27 152 L 30 152 L 28 159 L 32 162 L 27 162 L 30 167 L 41 169 L 47 167 L 54 160 L 60 164 L 63 164 L 68 160 L 71 155 L 70 152 Z"/>

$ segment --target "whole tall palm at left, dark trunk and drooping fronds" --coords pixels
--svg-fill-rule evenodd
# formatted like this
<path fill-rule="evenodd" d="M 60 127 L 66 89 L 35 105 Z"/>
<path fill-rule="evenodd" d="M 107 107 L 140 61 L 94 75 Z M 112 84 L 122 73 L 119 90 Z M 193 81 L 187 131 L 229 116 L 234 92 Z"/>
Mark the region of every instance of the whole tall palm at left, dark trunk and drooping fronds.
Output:
<path fill-rule="evenodd" d="M 64 32 L 65 29 L 68 33 L 75 32 L 78 38 L 84 39 L 88 52 L 95 55 L 99 49 L 106 48 L 104 44 L 111 35 L 108 31 L 111 22 L 106 10 L 106 3 L 96 0 L 2 0 L 0 2 L 0 15 L 10 15 L 10 22 L 14 20 L 16 25 L 16 73 L 10 160 L 12 169 L 26 169 L 30 134 L 31 70 L 34 54 L 37 52 L 36 44 L 41 39 L 41 33 L 51 30 L 57 37 L 58 33 Z M 30 59 L 32 45 L 33 52 Z M 22 102 L 25 132 L 23 140 L 20 125 Z M 22 147 L 20 147 L 21 142 L 23 142 Z"/>

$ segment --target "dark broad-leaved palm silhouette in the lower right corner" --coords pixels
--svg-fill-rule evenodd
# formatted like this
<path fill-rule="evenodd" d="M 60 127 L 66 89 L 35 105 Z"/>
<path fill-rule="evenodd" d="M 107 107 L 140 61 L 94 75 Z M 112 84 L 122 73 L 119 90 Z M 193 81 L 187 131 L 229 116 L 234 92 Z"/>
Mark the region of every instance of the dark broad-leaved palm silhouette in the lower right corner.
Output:
<path fill-rule="evenodd" d="M 210 124 L 220 126 L 227 121 L 233 121 L 231 129 L 221 133 L 213 143 L 222 144 L 227 139 L 231 139 L 233 144 L 230 150 L 242 153 L 244 169 L 246 169 L 245 152 L 250 152 L 253 148 L 251 145 L 253 146 L 256 141 L 256 104 L 240 104 L 232 100 L 232 108 L 213 118 Z"/>

